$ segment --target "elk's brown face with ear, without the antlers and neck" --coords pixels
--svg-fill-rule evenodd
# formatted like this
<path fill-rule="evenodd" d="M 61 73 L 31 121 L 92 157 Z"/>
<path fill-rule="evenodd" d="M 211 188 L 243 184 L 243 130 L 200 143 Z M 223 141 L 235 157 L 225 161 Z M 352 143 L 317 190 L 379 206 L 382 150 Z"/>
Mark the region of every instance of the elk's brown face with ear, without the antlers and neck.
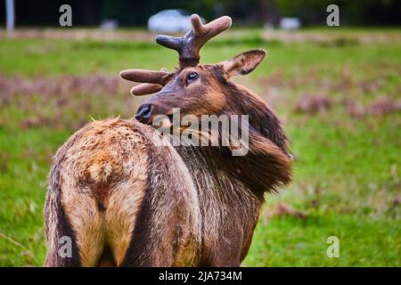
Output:
<path fill-rule="evenodd" d="M 146 80 L 151 82 L 151 76 L 160 76 L 160 85 L 166 83 L 157 94 L 154 94 L 136 112 L 135 118 L 144 124 L 151 124 L 156 115 L 172 115 L 174 108 L 179 108 L 181 115 L 192 114 L 220 115 L 227 106 L 227 101 L 233 100 L 227 92 L 228 78 L 236 74 L 247 74 L 255 69 L 265 56 L 264 51 L 241 53 L 230 61 L 215 65 L 198 65 L 177 70 L 176 73 L 166 71 L 148 72 Z M 122 77 L 129 77 L 123 71 Z M 130 70 L 132 74 L 132 70 Z M 136 75 L 139 74 L 135 70 Z M 138 77 L 135 77 L 138 80 Z M 132 90 L 138 94 L 138 89 L 158 88 L 157 85 L 139 85 Z"/>

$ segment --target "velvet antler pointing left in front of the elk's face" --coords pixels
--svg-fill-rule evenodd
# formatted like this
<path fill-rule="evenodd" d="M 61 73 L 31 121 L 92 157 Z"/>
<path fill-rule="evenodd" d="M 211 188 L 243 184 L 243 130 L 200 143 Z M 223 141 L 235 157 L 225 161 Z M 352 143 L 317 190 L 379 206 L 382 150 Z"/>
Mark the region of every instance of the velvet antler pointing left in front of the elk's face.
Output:
<path fill-rule="evenodd" d="M 168 72 L 168 69 L 160 69 L 160 71 L 151 71 L 145 69 L 127 69 L 119 73 L 119 76 L 134 82 L 143 84 L 136 85 L 131 88 L 131 94 L 142 96 L 153 94 L 160 91 L 164 85 L 168 84 L 174 72 Z"/>

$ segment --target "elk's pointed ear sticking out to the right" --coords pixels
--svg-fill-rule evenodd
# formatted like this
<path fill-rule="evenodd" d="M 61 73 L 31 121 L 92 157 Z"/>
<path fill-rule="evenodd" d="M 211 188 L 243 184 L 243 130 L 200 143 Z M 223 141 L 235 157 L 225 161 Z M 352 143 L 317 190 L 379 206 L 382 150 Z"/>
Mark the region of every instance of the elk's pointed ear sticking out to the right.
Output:
<path fill-rule="evenodd" d="M 233 59 L 223 62 L 223 69 L 227 77 L 233 75 L 246 75 L 265 58 L 264 50 L 252 50 L 238 54 Z"/>

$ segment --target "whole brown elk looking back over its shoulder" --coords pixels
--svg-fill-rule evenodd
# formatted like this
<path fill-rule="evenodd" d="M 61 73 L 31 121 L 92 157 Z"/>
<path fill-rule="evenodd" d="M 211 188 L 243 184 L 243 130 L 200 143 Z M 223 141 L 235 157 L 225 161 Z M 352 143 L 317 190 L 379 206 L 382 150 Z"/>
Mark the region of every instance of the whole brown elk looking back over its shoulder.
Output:
<path fill-rule="evenodd" d="M 57 151 L 45 201 L 45 266 L 239 266 L 247 255 L 264 193 L 291 181 L 291 154 L 266 102 L 230 80 L 264 59 L 252 50 L 200 65 L 200 50 L 231 26 L 192 15 L 184 37 L 156 42 L 179 67 L 127 69 L 135 95 L 153 94 L 135 118 L 94 121 Z M 155 116 L 249 115 L 249 152 L 228 146 L 173 146 L 151 126 Z M 161 146 L 160 146 L 161 145 Z M 62 257 L 60 239 L 72 254 Z"/>

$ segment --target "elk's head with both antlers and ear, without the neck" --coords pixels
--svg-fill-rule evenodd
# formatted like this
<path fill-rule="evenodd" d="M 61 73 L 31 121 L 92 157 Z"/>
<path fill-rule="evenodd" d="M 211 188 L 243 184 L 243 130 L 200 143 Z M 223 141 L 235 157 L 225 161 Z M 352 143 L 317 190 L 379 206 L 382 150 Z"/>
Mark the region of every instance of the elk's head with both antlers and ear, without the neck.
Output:
<path fill-rule="evenodd" d="M 184 37 L 158 36 L 156 42 L 179 53 L 176 72 L 167 69 L 151 71 L 143 69 L 123 70 L 120 76 L 143 83 L 131 89 L 135 95 L 154 94 L 136 112 L 135 118 L 151 124 L 156 115 L 171 115 L 179 108 L 181 115 L 220 114 L 227 106 L 230 93 L 228 80 L 233 75 L 246 75 L 255 69 L 266 55 L 253 50 L 241 53 L 229 61 L 213 65 L 198 65 L 200 49 L 211 38 L 231 26 L 227 16 L 202 25 L 198 15 L 192 15 L 192 29 Z"/>

